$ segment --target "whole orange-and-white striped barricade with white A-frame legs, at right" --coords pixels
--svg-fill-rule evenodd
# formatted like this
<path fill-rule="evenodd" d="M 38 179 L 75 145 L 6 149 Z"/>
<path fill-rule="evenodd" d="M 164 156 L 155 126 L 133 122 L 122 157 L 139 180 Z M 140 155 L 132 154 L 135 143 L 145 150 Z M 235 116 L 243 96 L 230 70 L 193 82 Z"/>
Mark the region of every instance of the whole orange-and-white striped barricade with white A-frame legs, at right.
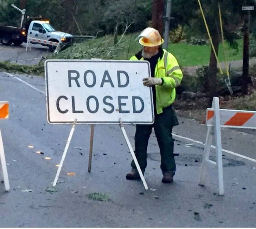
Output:
<path fill-rule="evenodd" d="M 208 127 L 203 151 L 199 185 L 204 186 L 207 166 L 218 167 L 219 195 L 224 195 L 221 127 L 256 129 L 256 111 L 219 109 L 219 98 L 214 97 L 212 108 L 207 109 L 206 125 Z M 209 159 L 211 143 L 215 137 L 216 162 Z"/>

